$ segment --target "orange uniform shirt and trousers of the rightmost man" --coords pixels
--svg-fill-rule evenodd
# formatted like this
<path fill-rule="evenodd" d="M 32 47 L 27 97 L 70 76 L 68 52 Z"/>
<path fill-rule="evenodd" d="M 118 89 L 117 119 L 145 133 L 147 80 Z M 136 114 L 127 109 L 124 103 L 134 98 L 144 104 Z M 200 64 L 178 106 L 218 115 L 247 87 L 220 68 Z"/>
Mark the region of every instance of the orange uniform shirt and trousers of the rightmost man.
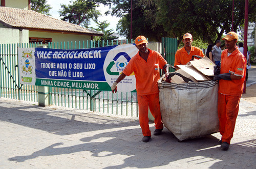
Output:
<path fill-rule="evenodd" d="M 218 116 L 222 142 L 230 144 L 233 137 L 234 126 L 238 116 L 239 102 L 244 88 L 246 73 L 246 60 L 244 55 L 236 48 L 229 56 L 227 49 L 221 54 L 221 73 L 233 73 L 242 76 L 239 80 L 219 81 Z"/>

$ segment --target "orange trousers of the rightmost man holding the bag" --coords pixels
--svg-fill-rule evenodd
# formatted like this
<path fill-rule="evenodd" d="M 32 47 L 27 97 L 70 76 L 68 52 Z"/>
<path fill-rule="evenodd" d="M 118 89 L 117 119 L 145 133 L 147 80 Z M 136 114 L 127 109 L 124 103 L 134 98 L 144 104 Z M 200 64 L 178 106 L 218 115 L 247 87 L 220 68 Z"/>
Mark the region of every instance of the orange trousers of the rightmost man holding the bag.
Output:
<path fill-rule="evenodd" d="M 230 140 L 233 137 L 234 126 L 236 125 L 238 117 L 240 98 L 241 96 L 229 96 L 219 93 L 218 116 L 222 142 L 230 144 Z"/>

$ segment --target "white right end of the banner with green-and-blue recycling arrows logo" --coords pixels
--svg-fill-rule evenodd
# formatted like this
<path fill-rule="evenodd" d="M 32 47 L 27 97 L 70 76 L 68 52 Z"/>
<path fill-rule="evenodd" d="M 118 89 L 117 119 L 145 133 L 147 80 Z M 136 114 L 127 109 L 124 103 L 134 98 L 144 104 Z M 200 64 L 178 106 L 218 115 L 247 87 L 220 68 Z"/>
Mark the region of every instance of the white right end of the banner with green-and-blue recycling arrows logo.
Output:
<path fill-rule="evenodd" d="M 104 61 L 103 70 L 106 82 L 108 82 L 110 87 L 137 52 L 138 49 L 133 44 L 118 45 L 108 52 Z M 134 73 L 126 76 L 118 83 L 117 87 L 118 92 L 131 92 L 135 89 L 136 79 Z"/>

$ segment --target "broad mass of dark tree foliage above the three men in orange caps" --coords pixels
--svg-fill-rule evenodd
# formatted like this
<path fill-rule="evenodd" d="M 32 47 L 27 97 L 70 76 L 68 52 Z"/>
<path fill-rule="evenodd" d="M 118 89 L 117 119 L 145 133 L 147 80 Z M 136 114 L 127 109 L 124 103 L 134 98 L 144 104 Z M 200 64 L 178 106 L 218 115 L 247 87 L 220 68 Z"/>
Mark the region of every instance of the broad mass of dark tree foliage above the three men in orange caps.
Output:
<path fill-rule="evenodd" d="M 118 23 L 120 35 L 130 38 L 131 1 L 114 0 L 108 13 L 122 17 Z M 244 0 L 234 0 L 233 31 L 244 25 Z M 249 0 L 249 21 L 256 21 L 256 1 Z M 194 39 L 214 43 L 223 33 L 231 31 L 232 1 L 226 0 L 133 0 L 133 38 L 145 35 L 160 41 L 160 37 L 178 38 L 189 32 Z"/>

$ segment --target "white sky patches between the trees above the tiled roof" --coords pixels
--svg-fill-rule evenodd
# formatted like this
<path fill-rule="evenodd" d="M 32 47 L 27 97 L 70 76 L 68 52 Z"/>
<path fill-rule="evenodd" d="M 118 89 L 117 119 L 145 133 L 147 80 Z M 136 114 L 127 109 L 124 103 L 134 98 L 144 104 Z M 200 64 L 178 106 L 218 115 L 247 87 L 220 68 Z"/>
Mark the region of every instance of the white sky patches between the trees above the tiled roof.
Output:
<path fill-rule="evenodd" d="M 58 13 L 58 11 L 61 9 L 60 4 L 69 5 L 69 4 L 71 4 L 70 1 L 72 1 L 72 0 L 61 0 L 61 1 L 48 0 L 47 4 L 49 4 L 52 7 L 52 9 L 50 10 L 50 14 L 52 15 L 52 17 L 56 18 L 56 19 L 60 19 L 59 13 Z M 107 27 L 107 30 L 113 29 L 114 32 L 117 32 L 116 25 L 118 23 L 119 18 L 112 17 L 111 15 L 108 15 L 108 16 L 104 15 L 105 11 L 109 10 L 108 6 L 104 7 L 104 5 L 100 5 L 100 7 L 98 7 L 97 10 L 99 10 L 102 15 L 98 18 L 98 21 L 102 22 L 102 21 L 106 20 L 107 22 L 110 23 L 109 27 Z M 94 21 L 91 21 L 90 27 L 96 28 L 97 24 Z"/>

